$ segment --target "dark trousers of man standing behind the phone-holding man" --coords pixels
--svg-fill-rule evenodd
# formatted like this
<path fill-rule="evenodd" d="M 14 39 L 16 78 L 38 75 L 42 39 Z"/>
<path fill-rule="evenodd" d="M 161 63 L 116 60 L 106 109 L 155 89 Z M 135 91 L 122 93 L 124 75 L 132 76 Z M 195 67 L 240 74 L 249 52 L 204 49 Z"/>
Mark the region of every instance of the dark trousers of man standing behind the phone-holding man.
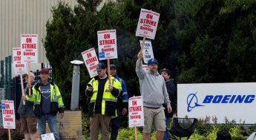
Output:
<path fill-rule="evenodd" d="M 122 108 L 117 108 L 117 116 L 111 119 L 111 140 L 116 140 L 118 135 L 118 130 L 120 127 L 120 121 L 122 116 Z"/>

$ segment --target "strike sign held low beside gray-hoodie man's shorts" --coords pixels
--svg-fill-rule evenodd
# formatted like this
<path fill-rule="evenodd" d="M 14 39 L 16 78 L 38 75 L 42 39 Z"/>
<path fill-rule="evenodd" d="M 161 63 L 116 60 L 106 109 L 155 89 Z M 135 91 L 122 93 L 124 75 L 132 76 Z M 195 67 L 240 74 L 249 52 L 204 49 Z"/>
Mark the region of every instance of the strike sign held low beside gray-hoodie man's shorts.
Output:
<path fill-rule="evenodd" d="M 140 97 L 129 98 L 129 127 L 144 126 L 143 100 Z"/>

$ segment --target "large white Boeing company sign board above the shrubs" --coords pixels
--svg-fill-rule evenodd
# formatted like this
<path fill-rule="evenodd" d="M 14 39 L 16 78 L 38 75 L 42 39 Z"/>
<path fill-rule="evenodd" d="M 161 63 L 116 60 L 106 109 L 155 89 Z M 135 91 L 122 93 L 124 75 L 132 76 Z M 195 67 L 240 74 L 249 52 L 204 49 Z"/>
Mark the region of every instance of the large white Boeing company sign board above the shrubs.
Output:
<path fill-rule="evenodd" d="M 217 117 L 217 123 L 256 123 L 256 83 L 198 83 L 177 85 L 179 117 Z"/>

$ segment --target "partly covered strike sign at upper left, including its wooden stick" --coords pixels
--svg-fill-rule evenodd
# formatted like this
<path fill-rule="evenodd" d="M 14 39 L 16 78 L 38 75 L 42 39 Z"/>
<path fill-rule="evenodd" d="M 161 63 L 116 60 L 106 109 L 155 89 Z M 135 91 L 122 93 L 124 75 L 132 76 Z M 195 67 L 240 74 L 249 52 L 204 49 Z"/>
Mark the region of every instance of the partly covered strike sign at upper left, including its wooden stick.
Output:
<path fill-rule="evenodd" d="M 23 85 L 22 74 L 26 73 L 27 67 L 25 63 L 22 63 L 21 48 L 13 48 L 13 68 L 14 68 L 14 73 L 19 74 L 21 85 L 22 85 L 22 96 L 24 96 L 24 85 Z M 25 105 L 25 101 L 23 101 L 23 105 Z"/>

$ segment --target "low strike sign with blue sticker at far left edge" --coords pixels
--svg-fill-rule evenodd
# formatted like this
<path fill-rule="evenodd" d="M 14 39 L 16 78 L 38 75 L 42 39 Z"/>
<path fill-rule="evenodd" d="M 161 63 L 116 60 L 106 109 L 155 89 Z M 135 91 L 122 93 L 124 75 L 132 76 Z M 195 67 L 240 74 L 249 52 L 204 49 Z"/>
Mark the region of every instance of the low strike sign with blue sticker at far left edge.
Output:
<path fill-rule="evenodd" d="M 1 100 L 3 125 L 5 129 L 16 129 L 13 100 Z"/>

